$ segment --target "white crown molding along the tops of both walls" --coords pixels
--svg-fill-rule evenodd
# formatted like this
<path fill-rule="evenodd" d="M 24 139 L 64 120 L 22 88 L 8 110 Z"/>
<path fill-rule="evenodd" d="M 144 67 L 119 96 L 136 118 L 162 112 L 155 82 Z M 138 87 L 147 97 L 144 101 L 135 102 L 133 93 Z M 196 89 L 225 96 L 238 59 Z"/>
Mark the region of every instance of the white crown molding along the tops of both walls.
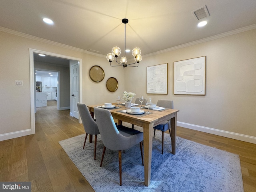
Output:
<path fill-rule="evenodd" d="M 153 56 L 153 55 L 162 54 L 162 53 L 165 53 L 165 52 L 177 50 L 177 49 L 180 49 L 180 48 L 185 48 L 185 47 L 200 44 L 200 43 L 203 43 L 203 42 L 208 42 L 208 41 L 211 41 L 211 40 L 223 38 L 223 37 L 226 37 L 226 36 L 238 34 L 238 33 L 253 30 L 253 29 L 256 29 L 256 24 L 246 26 L 246 27 L 243 27 L 243 28 L 239 28 L 239 29 L 235 29 L 235 30 L 225 32 L 225 33 L 222 33 L 222 34 L 214 35 L 214 36 L 211 36 L 211 37 L 203 38 L 203 39 L 200 39 L 200 40 L 192 41 L 192 42 L 189 42 L 189 43 L 185 43 L 185 44 L 182 44 L 182 45 L 178 45 L 178 46 L 171 47 L 171 48 L 168 48 L 168 49 L 164 49 L 164 50 L 161 50 L 161 51 L 157 51 L 157 52 L 154 52 L 154 53 L 146 54 L 146 55 L 143 55 L 143 57 L 150 57 L 150 56 Z M 54 42 L 54 41 L 46 40 L 46 39 L 43 39 L 43 38 L 35 37 L 35 36 L 32 36 L 32 35 L 28 35 L 28 34 L 25 34 L 25 33 L 22 33 L 22 32 L 17 32 L 17 31 L 14 31 L 14 30 L 11 30 L 11 29 L 8 29 L 8 28 L 4 28 L 4 27 L 0 27 L 0 31 L 10 33 L 10 34 L 14 34 L 14 35 L 17 35 L 17 36 L 21 36 L 21 37 L 24 37 L 24 38 L 28 38 L 28 39 L 32 39 L 32 40 L 36 40 L 36 41 L 40 41 L 40 42 L 44 42 L 44 43 L 48 43 L 48 44 L 52 44 L 52 45 L 55 45 L 55 46 L 60 46 L 60 47 L 63 47 L 63 48 L 74 50 L 74 51 L 83 52 L 83 53 L 94 55 L 94 56 L 106 57 L 105 55 L 102 55 L 102 54 L 89 52 L 87 50 L 83 50 L 83 49 L 80 49 L 80 48 L 76 48 L 76 47 L 68 46 L 68 45 L 65 45 L 65 44 L 57 43 L 57 42 Z"/>

